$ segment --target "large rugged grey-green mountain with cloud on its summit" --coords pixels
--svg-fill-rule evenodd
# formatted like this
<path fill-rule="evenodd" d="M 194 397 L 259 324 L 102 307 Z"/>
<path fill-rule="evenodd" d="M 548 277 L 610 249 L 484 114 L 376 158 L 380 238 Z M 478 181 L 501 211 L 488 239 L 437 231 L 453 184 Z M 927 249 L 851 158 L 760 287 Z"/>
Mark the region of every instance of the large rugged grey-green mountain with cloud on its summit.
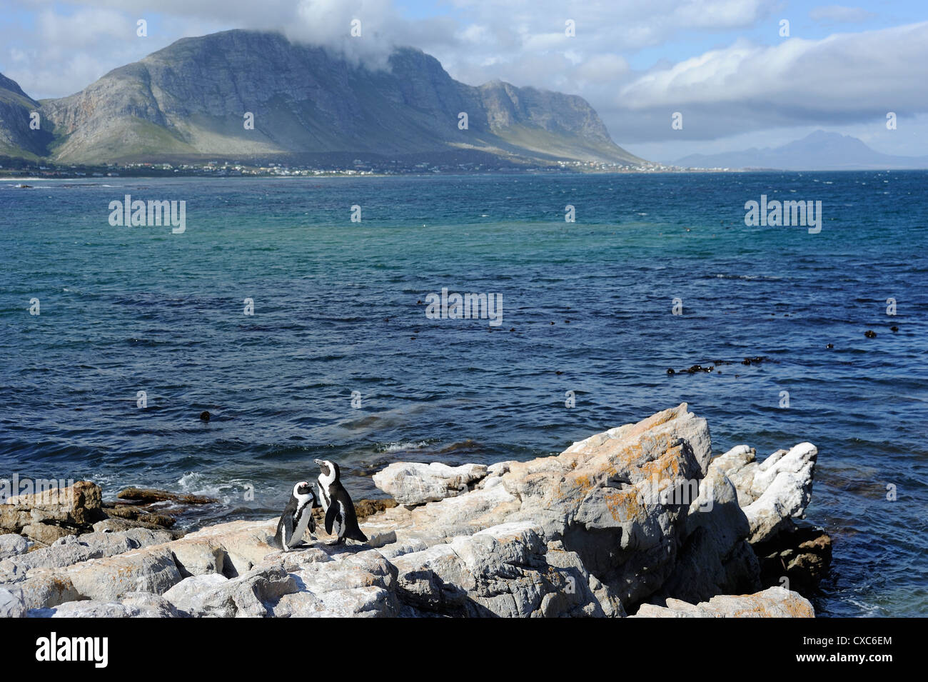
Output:
<path fill-rule="evenodd" d="M 277 33 L 184 38 L 41 104 L 54 133 L 45 153 L 71 163 L 449 151 L 645 162 L 612 142 L 582 97 L 498 81 L 461 84 L 413 48 L 395 50 L 376 69 Z M 461 111 L 468 130 L 458 129 Z M 253 130 L 243 125 L 246 112 Z M 5 134 L 9 127 L 5 119 Z M 21 147 L 19 136 L 12 139 Z"/>

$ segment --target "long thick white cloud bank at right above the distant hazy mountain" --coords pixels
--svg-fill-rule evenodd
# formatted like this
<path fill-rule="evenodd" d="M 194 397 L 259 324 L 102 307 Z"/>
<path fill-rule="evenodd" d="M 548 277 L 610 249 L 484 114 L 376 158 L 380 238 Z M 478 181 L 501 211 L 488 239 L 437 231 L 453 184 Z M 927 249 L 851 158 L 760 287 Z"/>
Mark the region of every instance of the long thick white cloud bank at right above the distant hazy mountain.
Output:
<path fill-rule="evenodd" d="M 928 22 L 773 46 L 740 40 L 639 74 L 606 110 L 623 134 L 642 141 L 883 122 L 887 111 L 928 111 L 925 45 Z M 671 129 L 674 111 L 683 113 L 682 131 Z"/>

